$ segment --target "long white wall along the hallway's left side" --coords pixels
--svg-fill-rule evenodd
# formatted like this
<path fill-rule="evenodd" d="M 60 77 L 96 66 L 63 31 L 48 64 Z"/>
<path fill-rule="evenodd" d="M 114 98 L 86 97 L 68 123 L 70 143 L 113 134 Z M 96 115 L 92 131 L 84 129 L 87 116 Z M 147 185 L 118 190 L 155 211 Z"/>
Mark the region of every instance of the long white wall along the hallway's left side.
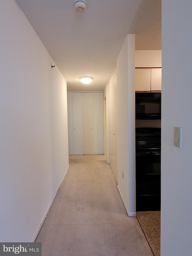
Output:
<path fill-rule="evenodd" d="M 32 242 L 69 165 L 66 81 L 14 0 L 0 23 L 0 242 Z"/>

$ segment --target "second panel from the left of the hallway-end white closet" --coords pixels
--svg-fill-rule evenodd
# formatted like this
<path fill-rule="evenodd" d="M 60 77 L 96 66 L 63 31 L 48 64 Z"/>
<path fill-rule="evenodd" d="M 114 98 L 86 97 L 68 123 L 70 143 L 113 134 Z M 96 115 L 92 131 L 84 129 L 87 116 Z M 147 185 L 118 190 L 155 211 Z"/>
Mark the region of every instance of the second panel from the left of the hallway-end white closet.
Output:
<path fill-rule="evenodd" d="M 83 96 L 73 93 L 73 152 L 74 155 L 84 154 L 83 145 Z"/>

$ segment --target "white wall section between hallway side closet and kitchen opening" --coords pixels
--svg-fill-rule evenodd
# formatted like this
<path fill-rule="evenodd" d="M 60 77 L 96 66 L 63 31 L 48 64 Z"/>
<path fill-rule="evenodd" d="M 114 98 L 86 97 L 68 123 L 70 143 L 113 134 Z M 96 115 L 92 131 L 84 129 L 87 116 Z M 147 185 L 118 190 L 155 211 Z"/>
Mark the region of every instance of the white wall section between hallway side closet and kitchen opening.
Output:
<path fill-rule="evenodd" d="M 117 59 L 117 162 L 119 192 L 128 216 L 136 216 L 134 34 L 127 35 Z"/>

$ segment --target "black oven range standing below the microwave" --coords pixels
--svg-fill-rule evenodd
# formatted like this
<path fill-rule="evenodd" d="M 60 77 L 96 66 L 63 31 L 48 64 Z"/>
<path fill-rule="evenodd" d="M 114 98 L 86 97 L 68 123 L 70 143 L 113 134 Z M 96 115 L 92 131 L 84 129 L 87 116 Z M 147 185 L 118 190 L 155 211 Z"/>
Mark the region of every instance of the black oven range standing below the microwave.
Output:
<path fill-rule="evenodd" d="M 136 128 L 136 211 L 161 209 L 161 128 Z"/>

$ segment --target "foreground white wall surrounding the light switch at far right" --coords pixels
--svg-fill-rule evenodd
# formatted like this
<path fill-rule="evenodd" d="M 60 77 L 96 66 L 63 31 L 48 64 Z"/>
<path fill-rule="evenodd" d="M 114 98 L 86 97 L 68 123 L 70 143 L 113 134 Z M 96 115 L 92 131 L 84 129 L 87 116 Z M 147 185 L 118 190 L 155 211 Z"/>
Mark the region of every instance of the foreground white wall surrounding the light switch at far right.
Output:
<path fill-rule="evenodd" d="M 192 255 L 191 10 L 192 1 L 162 0 L 161 256 Z"/>

